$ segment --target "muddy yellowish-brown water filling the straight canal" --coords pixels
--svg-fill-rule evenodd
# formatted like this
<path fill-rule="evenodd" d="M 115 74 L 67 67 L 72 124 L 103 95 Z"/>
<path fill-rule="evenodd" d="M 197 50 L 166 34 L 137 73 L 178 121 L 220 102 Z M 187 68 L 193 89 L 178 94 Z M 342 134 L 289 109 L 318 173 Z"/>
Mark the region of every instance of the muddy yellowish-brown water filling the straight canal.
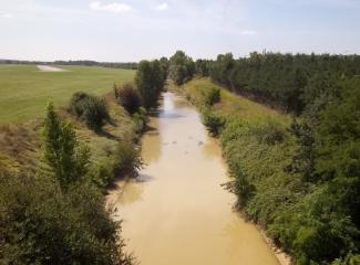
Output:
<path fill-rule="evenodd" d="M 126 251 L 142 265 L 277 265 L 260 232 L 232 206 L 235 197 L 217 142 L 186 99 L 164 93 L 142 140 L 137 180 L 119 182 L 109 202 L 123 220 Z"/>

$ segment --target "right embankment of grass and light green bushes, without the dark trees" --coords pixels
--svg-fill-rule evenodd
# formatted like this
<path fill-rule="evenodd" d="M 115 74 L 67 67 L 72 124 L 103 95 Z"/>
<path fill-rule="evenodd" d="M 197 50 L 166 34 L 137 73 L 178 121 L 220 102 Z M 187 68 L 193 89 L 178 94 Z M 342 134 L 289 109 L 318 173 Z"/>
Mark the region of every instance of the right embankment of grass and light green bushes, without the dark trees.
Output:
<path fill-rule="evenodd" d="M 279 212 L 297 200 L 297 180 L 284 172 L 295 144 L 287 128 L 290 117 L 213 84 L 194 80 L 178 88 L 202 112 L 203 123 L 219 138 L 233 181 L 226 187 L 237 194 L 236 208 L 264 231 L 281 264 L 290 264 L 271 240 L 271 224 Z M 206 104 L 212 89 L 220 99 Z"/>

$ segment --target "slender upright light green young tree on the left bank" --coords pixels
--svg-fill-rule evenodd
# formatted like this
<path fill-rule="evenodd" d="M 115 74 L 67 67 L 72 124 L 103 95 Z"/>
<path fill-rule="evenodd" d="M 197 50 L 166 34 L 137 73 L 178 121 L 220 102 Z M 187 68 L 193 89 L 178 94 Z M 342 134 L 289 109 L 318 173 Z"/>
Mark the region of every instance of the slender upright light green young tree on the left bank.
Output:
<path fill-rule="evenodd" d="M 47 109 L 42 147 L 44 160 L 62 189 L 86 174 L 89 148 L 79 145 L 72 125 L 60 119 L 52 103 Z"/>

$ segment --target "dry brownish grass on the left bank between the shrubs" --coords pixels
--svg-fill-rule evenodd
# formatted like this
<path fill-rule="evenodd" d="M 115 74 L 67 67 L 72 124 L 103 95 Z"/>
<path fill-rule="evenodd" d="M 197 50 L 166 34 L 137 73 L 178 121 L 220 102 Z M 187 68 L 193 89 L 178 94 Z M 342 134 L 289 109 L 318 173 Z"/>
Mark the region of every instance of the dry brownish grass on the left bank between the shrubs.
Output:
<path fill-rule="evenodd" d="M 84 124 L 70 116 L 65 110 L 61 110 L 64 119 L 73 124 L 79 141 L 86 144 L 92 153 L 92 161 L 99 162 L 116 151 L 119 140 L 134 140 L 136 135 L 136 124 L 128 114 L 107 97 L 112 124 L 103 127 L 102 134 L 95 134 Z M 41 157 L 40 149 L 41 123 L 32 120 L 24 125 L 2 125 L 0 126 L 0 170 L 7 168 L 11 171 L 20 169 L 34 170 Z"/>

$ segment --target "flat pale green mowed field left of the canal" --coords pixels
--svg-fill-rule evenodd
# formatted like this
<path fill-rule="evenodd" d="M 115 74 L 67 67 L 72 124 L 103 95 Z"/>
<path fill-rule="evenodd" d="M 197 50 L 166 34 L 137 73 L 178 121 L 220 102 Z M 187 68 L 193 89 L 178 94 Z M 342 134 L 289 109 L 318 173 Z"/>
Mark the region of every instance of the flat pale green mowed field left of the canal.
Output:
<path fill-rule="evenodd" d="M 113 84 L 132 82 L 133 70 L 59 66 L 43 72 L 37 65 L 0 65 L 0 124 L 23 123 L 44 113 L 48 102 L 66 106 L 75 92 L 105 95 Z"/>

